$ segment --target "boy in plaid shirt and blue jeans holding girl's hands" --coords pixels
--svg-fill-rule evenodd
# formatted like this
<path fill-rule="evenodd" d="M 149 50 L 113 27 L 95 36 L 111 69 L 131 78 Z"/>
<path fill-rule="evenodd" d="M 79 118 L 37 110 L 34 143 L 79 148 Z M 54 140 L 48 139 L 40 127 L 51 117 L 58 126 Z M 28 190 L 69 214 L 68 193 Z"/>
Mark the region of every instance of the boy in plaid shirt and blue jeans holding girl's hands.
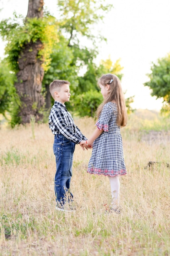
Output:
<path fill-rule="evenodd" d="M 73 153 L 75 144 L 79 144 L 82 140 L 87 140 L 87 138 L 74 124 L 72 115 L 64 104 L 66 101 L 70 101 L 70 82 L 54 80 L 50 83 L 50 94 L 54 99 L 54 105 L 49 115 L 49 127 L 54 134 L 56 209 L 59 211 L 73 211 L 73 195 L 70 192 Z M 87 149 L 88 146 L 85 146 L 85 148 Z M 68 204 L 66 204 L 67 202 Z"/>

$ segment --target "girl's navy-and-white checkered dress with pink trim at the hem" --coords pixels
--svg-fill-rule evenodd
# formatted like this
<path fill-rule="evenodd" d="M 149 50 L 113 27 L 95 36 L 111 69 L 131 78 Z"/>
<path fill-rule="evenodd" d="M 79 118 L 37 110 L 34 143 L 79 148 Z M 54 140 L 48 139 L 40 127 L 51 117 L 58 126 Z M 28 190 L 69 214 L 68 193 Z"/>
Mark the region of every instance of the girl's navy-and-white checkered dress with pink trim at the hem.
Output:
<path fill-rule="evenodd" d="M 88 173 L 115 176 L 125 175 L 122 136 L 117 125 L 118 115 L 115 103 L 108 102 L 102 109 L 96 123 L 102 134 L 94 141 L 92 156 L 89 160 Z"/>

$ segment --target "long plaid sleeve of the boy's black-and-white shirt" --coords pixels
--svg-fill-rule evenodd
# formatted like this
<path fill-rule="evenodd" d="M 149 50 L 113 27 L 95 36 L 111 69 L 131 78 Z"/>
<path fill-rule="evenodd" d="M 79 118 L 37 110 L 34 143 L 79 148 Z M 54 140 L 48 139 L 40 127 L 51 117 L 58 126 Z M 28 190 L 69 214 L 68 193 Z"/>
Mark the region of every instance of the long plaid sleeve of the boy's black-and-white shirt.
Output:
<path fill-rule="evenodd" d="M 74 121 L 72 120 L 73 127 L 71 127 L 68 124 L 67 119 L 65 118 L 64 113 L 61 110 L 52 110 L 50 113 L 50 119 L 51 124 L 53 123 L 53 126 L 56 128 L 55 130 L 58 130 L 70 141 L 74 142 L 75 144 L 78 144 L 81 140 L 83 140 L 84 135 L 80 132 L 79 129 L 76 128 Z"/>

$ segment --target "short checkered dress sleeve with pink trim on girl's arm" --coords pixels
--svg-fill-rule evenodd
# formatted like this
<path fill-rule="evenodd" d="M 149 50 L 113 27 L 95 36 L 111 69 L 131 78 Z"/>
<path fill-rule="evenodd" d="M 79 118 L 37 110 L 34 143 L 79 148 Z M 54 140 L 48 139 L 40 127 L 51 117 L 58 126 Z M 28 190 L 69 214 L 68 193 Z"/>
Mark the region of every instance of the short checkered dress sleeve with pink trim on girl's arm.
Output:
<path fill-rule="evenodd" d="M 106 103 L 102 109 L 102 112 L 99 116 L 98 121 L 96 122 L 96 126 L 99 130 L 104 130 L 108 132 L 109 130 L 109 120 L 111 119 L 113 114 L 113 108 Z"/>

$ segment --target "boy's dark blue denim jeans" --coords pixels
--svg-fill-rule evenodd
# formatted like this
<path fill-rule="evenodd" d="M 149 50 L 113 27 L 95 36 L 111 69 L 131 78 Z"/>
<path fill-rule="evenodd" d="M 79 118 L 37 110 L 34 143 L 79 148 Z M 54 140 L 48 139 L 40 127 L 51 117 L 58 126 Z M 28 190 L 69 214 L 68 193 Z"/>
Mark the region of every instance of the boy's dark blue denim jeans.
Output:
<path fill-rule="evenodd" d="M 54 179 L 54 191 L 58 204 L 72 201 L 70 181 L 72 177 L 72 163 L 75 143 L 62 134 L 54 135 L 53 151 L 56 159 L 56 174 Z"/>

